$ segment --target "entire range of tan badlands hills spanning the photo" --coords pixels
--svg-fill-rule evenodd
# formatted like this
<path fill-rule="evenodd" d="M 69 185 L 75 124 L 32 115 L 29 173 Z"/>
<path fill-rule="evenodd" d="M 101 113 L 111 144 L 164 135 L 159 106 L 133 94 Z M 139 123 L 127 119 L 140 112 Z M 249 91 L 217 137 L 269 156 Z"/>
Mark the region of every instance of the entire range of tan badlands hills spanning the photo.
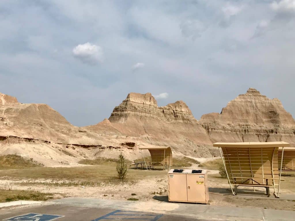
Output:
<path fill-rule="evenodd" d="M 194 157 L 218 155 L 214 142 L 287 141 L 295 146 L 295 121 L 278 99 L 250 88 L 221 113 L 197 121 L 183 101 L 163 107 L 150 94 L 130 93 L 109 119 L 71 125 L 46 104 L 22 104 L 0 93 L 0 151 L 34 158 L 47 166 L 80 159 L 139 158 L 140 146 L 171 146 Z"/>

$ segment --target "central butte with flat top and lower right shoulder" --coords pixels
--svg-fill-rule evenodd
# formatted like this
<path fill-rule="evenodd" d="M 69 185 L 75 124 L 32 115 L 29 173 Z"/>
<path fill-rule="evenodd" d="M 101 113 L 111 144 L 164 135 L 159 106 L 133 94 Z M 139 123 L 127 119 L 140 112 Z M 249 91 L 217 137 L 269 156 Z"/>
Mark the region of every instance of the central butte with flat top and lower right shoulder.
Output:
<path fill-rule="evenodd" d="M 194 156 L 211 156 L 207 132 L 183 101 L 163 107 L 150 94 L 130 93 L 114 108 L 109 121 L 127 136 L 140 136 L 151 144 L 171 146 Z"/>

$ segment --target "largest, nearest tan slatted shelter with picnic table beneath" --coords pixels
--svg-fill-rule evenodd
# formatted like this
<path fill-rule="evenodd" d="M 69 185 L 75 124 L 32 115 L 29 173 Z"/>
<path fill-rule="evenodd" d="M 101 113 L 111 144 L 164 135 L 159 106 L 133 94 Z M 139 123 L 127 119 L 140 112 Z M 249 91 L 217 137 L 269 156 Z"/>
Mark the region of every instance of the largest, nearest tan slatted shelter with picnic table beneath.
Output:
<path fill-rule="evenodd" d="M 278 164 L 278 148 L 289 147 L 286 142 L 241 142 L 215 143 L 219 148 L 222 161 L 226 169 L 232 194 L 237 194 L 237 187 L 265 187 L 269 196 L 269 187 L 273 187 L 274 194 L 279 197 L 281 184 L 281 170 Z M 276 192 L 276 186 L 278 191 Z M 233 191 L 235 188 L 235 193 Z"/>

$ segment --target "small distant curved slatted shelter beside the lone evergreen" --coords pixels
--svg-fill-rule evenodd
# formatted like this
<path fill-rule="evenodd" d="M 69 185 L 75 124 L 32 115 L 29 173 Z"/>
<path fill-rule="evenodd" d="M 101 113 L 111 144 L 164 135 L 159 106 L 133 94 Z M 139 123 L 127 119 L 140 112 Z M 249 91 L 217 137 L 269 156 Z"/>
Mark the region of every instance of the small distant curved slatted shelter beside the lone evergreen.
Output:
<path fill-rule="evenodd" d="M 140 147 L 141 150 L 148 150 L 151 156 L 151 162 L 146 162 L 145 157 L 143 156 L 146 169 L 151 169 L 155 167 L 161 167 L 162 169 L 170 169 L 173 159 L 172 151 L 169 146 L 160 146 L 160 147 Z"/>

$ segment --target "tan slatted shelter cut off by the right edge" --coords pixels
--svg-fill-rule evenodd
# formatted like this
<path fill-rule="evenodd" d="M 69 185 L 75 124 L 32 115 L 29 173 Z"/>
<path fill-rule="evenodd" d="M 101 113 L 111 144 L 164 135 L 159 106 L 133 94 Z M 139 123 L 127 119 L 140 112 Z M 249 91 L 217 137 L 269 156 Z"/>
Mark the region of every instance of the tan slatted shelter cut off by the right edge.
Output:
<path fill-rule="evenodd" d="M 283 149 L 278 149 L 278 161 L 282 159 Z M 279 169 L 281 169 L 279 165 Z M 295 149 L 286 147 L 284 148 L 284 156 L 282 163 L 282 171 L 295 171 Z"/>

